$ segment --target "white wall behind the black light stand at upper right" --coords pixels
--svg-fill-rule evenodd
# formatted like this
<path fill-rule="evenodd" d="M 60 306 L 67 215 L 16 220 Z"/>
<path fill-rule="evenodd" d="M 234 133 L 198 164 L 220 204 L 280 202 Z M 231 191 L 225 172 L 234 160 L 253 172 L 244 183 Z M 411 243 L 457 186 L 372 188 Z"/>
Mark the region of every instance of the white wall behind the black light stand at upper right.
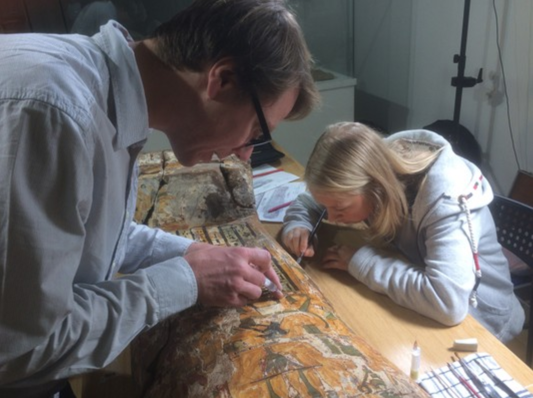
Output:
<path fill-rule="evenodd" d="M 422 126 L 454 113 L 464 1 L 413 0 L 409 125 Z M 509 95 L 509 114 L 521 170 L 533 171 L 533 55 L 531 0 L 496 0 L 499 43 Z M 512 149 L 499 65 L 492 1 L 473 1 L 466 49 L 466 76 L 483 68 L 484 82 L 463 91 L 460 122 L 478 139 L 484 172 L 496 192 L 507 194 L 518 171 Z"/>

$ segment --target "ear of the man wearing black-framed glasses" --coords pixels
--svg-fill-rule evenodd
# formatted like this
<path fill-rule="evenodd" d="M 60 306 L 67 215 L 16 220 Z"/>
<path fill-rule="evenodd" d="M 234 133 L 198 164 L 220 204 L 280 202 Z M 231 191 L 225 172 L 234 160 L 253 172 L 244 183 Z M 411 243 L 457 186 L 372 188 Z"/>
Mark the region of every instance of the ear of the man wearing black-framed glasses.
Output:
<path fill-rule="evenodd" d="M 207 96 L 213 100 L 233 97 L 238 89 L 235 62 L 227 57 L 216 61 L 207 72 Z"/>

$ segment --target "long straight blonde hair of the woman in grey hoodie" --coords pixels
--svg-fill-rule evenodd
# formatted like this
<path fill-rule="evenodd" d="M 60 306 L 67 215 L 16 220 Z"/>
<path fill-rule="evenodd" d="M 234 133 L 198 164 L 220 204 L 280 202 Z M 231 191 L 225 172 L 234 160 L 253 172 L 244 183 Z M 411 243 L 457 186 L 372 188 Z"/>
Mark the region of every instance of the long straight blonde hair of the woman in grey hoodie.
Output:
<path fill-rule="evenodd" d="M 310 189 L 365 195 L 374 206 L 370 234 L 392 240 L 409 210 L 406 181 L 425 172 L 439 153 L 406 140 L 387 142 L 362 123 L 336 123 L 318 139 L 304 178 Z"/>

